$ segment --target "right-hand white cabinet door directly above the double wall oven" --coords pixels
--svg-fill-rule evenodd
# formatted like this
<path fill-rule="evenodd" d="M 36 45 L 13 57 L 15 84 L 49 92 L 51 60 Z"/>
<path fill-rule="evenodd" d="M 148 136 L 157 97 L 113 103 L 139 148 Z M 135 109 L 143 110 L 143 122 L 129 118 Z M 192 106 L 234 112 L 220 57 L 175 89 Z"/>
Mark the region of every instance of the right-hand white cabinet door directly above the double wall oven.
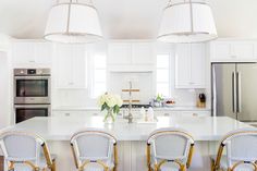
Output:
<path fill-rule="evenodd" d="M 50 64 L 52 48 L 49 42 L 37 42 L 34 46 L 35 60 L 39 64 Z"/>

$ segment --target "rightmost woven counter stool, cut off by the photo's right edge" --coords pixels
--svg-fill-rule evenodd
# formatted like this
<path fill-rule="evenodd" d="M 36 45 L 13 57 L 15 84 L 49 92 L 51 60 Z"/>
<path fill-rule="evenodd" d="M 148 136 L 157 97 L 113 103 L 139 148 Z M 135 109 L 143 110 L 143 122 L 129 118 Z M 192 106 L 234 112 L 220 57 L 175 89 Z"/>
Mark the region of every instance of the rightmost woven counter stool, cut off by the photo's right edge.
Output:
<path fill-rule="evenodd" d="M 211 171 L 217 170 L 257 171 L 257 129 L 240 129 L 224 136 L 218 155 L 211 157 Z"/>

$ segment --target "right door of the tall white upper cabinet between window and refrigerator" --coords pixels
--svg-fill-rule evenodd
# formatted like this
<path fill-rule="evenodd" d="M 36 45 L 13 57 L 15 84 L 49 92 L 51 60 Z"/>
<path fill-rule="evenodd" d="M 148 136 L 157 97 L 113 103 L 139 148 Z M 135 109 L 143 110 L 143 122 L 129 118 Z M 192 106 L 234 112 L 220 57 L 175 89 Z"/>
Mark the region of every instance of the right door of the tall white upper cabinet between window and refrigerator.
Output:
<path fill-rule="evenodd" d="M 206 85 L 206 45 L 191 45 L 191 82 L 192 88 L 205 88 Z"/>

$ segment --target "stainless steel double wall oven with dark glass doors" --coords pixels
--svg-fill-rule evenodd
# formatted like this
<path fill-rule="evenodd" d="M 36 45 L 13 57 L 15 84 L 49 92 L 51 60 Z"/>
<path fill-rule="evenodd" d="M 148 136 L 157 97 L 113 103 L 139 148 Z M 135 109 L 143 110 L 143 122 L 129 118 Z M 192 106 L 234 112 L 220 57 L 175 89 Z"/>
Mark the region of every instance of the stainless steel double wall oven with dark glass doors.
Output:
<path fill-rule="evenodd" d="M 50 69 L 14 69 L 15 123 L 51 112 Z"/>

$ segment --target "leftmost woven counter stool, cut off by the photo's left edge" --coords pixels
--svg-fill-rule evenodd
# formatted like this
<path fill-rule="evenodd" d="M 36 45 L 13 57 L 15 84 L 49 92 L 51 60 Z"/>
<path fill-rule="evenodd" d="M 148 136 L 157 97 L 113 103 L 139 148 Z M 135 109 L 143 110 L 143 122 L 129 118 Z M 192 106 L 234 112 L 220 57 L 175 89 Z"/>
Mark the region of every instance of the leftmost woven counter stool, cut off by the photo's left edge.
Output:
<path fill-rule="evenodd" d="M 0 145 L 9 171 L 56 171 L 56 158 L 50 156 L 42 137 L 10 131 L 0 135 Z"/>

